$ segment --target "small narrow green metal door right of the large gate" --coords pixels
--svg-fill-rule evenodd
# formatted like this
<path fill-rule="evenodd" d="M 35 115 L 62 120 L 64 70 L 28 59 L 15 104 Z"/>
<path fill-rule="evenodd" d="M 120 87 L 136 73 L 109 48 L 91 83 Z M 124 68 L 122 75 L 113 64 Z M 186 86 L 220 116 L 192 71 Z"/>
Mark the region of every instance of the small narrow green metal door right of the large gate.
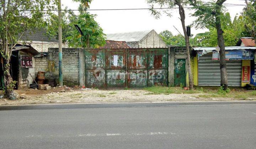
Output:
<path fill-rule="evenodd" d="M 186 59 L 174 59 L 174 85 L 186 86 Z"/>

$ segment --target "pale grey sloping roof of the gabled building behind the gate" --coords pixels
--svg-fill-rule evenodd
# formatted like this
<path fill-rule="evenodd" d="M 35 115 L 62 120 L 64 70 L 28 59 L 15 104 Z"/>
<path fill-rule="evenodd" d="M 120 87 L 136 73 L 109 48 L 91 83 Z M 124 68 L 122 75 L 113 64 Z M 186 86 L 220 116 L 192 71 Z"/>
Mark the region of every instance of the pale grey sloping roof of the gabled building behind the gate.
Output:
<path fill-rule="evenodd" d="M 151 31 L 153 31 L 153 30 L 151 30 Z M 151 31 L 107 34 L 107 40 L 138 42 Z"/>

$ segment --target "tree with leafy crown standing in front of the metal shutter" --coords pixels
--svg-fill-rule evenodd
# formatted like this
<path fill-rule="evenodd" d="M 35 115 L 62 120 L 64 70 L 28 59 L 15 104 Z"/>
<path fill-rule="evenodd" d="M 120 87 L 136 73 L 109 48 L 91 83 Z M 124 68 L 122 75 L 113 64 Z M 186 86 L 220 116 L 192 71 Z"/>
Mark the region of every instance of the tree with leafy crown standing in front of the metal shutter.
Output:
<path fill-rule="evenodd" d="M 204 3 L 201 0 L 190 0 L 193 9 L 196 11 L 192 16 L 197 17 L 195 21 L 197 28 L 214 27 L 217 31 L 217 41 L 220 48 L 220 85 L 224 90 L 228 89 L 228 74 L 226 71 L 225 42 L 221 20 L 225 18 L 223 3 L 226 0 Z"/>

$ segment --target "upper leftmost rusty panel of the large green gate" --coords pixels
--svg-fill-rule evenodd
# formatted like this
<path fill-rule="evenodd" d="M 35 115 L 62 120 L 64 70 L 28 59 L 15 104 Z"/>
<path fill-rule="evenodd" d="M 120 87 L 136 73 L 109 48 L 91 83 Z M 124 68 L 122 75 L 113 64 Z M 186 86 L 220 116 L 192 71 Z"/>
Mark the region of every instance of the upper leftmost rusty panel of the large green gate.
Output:
<path fill-rule="evenodd" d="M 105 68 L 105 50 L 85 50 L 85 69 Z"/>

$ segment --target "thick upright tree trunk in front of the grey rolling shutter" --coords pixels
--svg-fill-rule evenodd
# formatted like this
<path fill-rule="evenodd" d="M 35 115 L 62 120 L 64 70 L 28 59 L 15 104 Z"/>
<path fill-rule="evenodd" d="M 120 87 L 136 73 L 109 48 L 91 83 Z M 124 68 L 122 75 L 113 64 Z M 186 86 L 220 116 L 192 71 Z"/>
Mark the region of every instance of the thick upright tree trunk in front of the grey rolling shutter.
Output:
<path fill-rule="evenodd" d="M 223 37 L 222 26 L 220 22 L 221 8 L 223 2 L 226 0 L 218 0 L 216 2 L 216 13 L 215 13 L 215 21 L 216 21 L 216 29 L 217 29 L 217 39 L 218 45 L 220 48 L 219 51 L 219 59 L 220 59 L 220 86 L 223 86 L 224 90 L 228 89 L 228 74 L 226 71 L 226 54 L 225 54 L 225 43 Z"/>

